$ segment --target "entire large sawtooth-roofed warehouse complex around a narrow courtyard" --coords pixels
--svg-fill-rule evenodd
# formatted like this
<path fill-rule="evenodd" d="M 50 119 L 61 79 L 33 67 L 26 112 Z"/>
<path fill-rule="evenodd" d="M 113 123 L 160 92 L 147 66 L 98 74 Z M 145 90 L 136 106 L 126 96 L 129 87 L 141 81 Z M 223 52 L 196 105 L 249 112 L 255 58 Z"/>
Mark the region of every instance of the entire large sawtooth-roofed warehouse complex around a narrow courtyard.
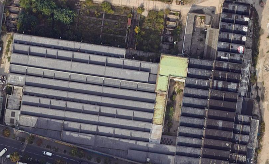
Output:
<path fill-rule="evenodd" d="M 125 59 L 125 49 L 15 34 L 5 123 L 145 163 L 252 163 L 248 4 L 226 1 L 216 58 Z M 161 144 L 169 81 L 184 83 L 176 143 Z"/>

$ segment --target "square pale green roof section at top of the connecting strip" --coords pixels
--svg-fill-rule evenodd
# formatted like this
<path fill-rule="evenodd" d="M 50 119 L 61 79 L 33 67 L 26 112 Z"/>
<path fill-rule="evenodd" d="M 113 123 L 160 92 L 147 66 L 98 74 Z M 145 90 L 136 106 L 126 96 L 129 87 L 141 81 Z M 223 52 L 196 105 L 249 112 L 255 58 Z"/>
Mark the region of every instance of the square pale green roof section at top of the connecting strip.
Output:
<path fill-rule="evenodd" d="M 189 59 L 165 55 L 160 58 L 159 75 L 187 77 Z"/>

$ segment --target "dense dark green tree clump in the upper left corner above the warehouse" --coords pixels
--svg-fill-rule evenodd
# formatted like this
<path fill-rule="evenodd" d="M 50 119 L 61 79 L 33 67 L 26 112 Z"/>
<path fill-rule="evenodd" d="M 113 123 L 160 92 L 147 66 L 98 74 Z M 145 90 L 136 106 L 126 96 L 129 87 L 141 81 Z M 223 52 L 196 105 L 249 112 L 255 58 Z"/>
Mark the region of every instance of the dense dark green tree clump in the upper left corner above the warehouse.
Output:
<path fill-rule="evenodd" d="M 81 35 L 73 30 L 76 13 L 69 1 L 22 0 L 18 33 L 78 41 Z"/>

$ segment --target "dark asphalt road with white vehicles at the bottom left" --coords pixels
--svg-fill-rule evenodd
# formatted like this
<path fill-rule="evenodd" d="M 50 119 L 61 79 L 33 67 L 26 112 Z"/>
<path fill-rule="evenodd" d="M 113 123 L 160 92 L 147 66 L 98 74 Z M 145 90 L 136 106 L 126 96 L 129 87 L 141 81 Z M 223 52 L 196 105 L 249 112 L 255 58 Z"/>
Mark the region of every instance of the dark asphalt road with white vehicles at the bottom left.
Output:
<path fill-rule="evenodd" d="M 44 160 L 46 162 L 52 163 L 56 159 L 63 159 L 67 163 L 70 163 L 70 164 L 77 164 L 78 161 L 81 161 L 80 158 L 76 158 L 76 157 L 70 156 L 68 154 L 60 153 L 60 152 L 52 152 L 51 157 L 45 156 L 43 155 L 43 152 L 48 151 L 47 149 L 30 145 L 30 144 L 26 146 L 24 153 L 22 153 L 20 150 L 23 147 L 23 145 L 21 144 L 20 141 L 0 137 L 0 151 L 3 150 L 5 147 L 8 149 L 8 151 L 3 155 L 3 157 L 0 158 L 0 164 L 12 163 L 10 160 L 6 159 L 6 155 L 11 154 L 14 151 L 18 151 L 20 155 L 30 156 L 32 158 L 32 161 L 34 161 L 35 159 L 38 159 L 38 160 Z M 87 162 L 89 164 L 94 164 L 89 161 Z"/>

